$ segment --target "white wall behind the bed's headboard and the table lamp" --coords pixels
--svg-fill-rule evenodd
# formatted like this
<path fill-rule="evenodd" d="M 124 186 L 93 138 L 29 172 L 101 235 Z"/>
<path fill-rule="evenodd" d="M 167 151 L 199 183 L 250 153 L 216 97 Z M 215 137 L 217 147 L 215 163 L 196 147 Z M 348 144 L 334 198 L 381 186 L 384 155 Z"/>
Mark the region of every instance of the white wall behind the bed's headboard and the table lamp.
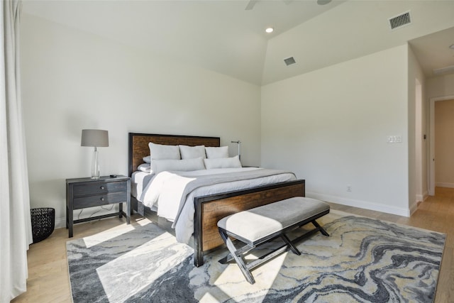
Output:
<path fill-rule="evenodd" d="M 31 207 L 54 207 L 57 226 L 65 222 L 65 179 L 90 174 L 82 128 L 109 131 L 101 175 L 128 173 L 128 132 L 220 136 L 231 155 L 239 139 L 243 164 L 260 164 L 253 84 L 28 14 L 21 72 Z"/>

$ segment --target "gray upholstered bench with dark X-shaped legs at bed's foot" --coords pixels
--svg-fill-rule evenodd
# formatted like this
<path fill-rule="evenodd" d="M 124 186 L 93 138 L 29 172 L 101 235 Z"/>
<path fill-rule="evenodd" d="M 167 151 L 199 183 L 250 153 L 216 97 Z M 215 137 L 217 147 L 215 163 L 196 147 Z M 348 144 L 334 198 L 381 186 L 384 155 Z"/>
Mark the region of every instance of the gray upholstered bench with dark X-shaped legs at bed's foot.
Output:
<path fill-rule="evenodd" d="M 329 210 L 329 204 L 325 202 L 306 197 L 293 197 L 226 216 L 218 221 L 218 230 L 230 253 L 219 262 L 227 263 L 235 260 L 246 280 L 253 284 L 255 280 L 250 273 L 253 268 L 283 253 L 288 248 L 293 253 L 301 255 L 294 243 L 317 231 L 324 236 L 329 236 L 316 222 L 316 219 L 328 214 Z M 315 228 L 290 241 L 286 233 L 308 223 L 314 224 Z M 236 238 L 245 245 L 237 249 L 230 237 Z M 245 263 L 243 258 L 245 253 L 279 237 L 284 241 L 284 246 Z"/>

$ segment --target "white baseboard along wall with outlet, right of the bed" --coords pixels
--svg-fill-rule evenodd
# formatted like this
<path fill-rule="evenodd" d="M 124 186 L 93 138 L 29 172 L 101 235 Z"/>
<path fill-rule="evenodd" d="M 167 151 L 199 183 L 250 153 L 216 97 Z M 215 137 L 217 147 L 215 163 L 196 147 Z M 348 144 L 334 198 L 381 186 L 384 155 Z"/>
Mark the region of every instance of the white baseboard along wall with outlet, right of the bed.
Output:
<path fill-rule="evenodd" d="M 370 209 L 372 211 L 381 211 L 387 214 L 396 214 L 397 216 L 410 216 L 411 214 L 410 209 L 402 209 L 400 207 L 377 204 L 355 199 L 346 199 L 344 197 L 336 197 L 328 194 L 319 194 L 317 192 L 306 192 L 306 197 L 319 199 L 326 202 L 343 204 L 346 206 L 358 207 L 360 209 Z"/>

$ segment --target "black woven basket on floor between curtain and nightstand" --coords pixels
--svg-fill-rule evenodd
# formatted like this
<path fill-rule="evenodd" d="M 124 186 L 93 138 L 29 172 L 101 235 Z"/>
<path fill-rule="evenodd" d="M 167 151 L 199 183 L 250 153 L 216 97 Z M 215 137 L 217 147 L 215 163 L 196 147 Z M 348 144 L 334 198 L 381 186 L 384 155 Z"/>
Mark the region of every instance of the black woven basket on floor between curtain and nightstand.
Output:
<path fill-rule="evenodd" d="M 38 243 L 48 238 L 55 228 L 55 209 L 31 209 L 31 231 L 33 243 Z"/>

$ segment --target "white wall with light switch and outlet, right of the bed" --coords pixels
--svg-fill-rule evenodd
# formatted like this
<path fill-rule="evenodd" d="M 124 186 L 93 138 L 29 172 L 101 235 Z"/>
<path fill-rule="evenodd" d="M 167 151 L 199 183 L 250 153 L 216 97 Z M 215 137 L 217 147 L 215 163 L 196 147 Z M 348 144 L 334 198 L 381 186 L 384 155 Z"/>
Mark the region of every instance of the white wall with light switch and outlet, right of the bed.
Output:
<path fill-rule="evenodd" d="M 308 197 L 408 216 L 407 56 L 402 45 L 262 87 L 262 166 L 296 172 Z"/>

